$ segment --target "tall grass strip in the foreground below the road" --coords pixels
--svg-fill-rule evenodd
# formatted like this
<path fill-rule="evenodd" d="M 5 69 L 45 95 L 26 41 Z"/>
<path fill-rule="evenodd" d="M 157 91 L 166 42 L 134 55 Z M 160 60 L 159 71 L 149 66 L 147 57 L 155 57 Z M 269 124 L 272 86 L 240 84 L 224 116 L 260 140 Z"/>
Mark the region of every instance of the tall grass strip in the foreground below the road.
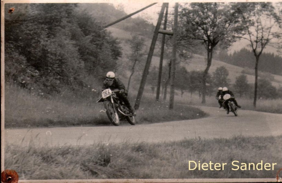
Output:
<path fill-rule="evenodd" d="M 189 139 L 150 144 L 91 146 L 7 145 L 5 169 L 20 179 L 275 178 L 282 166 L 282 136 Z M 227 163 L 224 170 L 188 170 L 189 160 Z M 231 162 L 277 163 L 274 170 L 231 170 Z"/>

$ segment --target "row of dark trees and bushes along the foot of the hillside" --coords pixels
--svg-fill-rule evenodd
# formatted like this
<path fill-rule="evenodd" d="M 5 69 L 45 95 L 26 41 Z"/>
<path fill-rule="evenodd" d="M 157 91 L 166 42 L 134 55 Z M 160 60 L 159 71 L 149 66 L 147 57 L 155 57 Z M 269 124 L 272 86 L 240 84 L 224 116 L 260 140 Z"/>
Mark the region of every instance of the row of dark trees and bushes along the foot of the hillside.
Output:
<path fill-rule="evenodd" d="M 149 78 L 156 78 L 156 68 L 153 68 L 149 73 Z M 203 72 L 199 70 L 187 71 L 185 66 L 178 66 L 176 70 L 175 87 L 181 92 L 181 97 L 184 93 L 189 93 L 192 98 L 192 94 L 197 94 L 199 97 L 202 95 L 202 77 Z M 234 84 L 231 84 L 228 78 L 229 71 L 224 67 L 217 67 L 212 74 L 207 75 L 207 95 L 215 96 L 219 87 L 227 87 L 233 91 L 236 97 L 253 98 L 254 97 L 254 86 L 247 80 L 247 75 L 241 74 L 236 77 Z M 162 82 L 162 93 L 164 96 L 165 83 L 167 76 L 163 76 Z M 154 86 L 156 80 L 150 80 L 149 83 Z M 268 78 L 262 77 L 258 79 L 258 99 L 278 99 L 282 98 L 282 87 L 276 88 L 271 84 Z M 164 98 L 166 99 L 166 98 Z"/>

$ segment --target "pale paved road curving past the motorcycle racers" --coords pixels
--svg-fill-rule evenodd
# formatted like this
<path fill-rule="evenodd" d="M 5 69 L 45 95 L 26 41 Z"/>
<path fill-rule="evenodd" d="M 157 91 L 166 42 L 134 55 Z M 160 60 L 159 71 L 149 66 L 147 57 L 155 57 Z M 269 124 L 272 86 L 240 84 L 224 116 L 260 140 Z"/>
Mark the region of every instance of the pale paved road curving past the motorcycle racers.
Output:
<path fill-rule="evenodd" d="M 5 145 L 89 145 L 93 143 L 169 142 L 184 138 L 215 138 L 282 135 L 282 114 L 239 110 L 238 116 L 226 115 L 223 109 L 199 107 L 210 116 L 196 120 L 156 124 L 100 127 L 52 127 L 5 129 Z M 106 115 L 106 114 L 105 114 Z"/>

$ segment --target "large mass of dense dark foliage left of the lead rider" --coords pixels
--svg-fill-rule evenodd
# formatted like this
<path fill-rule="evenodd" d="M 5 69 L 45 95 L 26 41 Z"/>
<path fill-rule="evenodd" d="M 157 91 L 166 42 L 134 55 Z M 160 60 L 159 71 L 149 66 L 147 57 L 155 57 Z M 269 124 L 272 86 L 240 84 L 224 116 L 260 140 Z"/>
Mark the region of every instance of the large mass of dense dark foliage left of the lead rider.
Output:
<path fill-rule="evenodd" d="M 87 13 L 76 12 L 77 4 L 15 7 L 19 13 L 5 16 L 5 76 L 20 86 L 47 94 L 81 91 L 116 67 L 118 42 Z"/>

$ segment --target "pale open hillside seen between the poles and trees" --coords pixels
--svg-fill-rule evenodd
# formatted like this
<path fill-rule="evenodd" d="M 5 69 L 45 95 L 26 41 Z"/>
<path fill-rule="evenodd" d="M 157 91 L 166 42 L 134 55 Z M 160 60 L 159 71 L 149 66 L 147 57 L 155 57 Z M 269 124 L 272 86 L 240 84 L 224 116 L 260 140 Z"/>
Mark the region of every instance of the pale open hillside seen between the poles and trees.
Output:
<path fill-rule="evenodd" d="M 131 38 L 130 33 L 125 31 L 125 30 L 120 30 L 120 29 L 114 28 L 114 27 L 108 27 L 107 30 L 112 32 L 112 35 L 115 38 L 118 38 L 121 41 Z M 151 40 L 146 39 L 146 44 L 148 45 L 148 48 L 149 48 L 149 46 L 151 44 Z M 128 46 L 126 44 L 123 44 L 123 43 L 121 45 L 123 47 L 123 55 L 124 55 L 126 52 L 129 51 Z M 158 49 L 158 48 L 156 48 L 156 49 Z M 165 65 L 167 63 L 166 58 L 164 58 L 164 59 L 165 60 L 164 60 L 163 65 Z M 158 56 L 156 56 L 156 55 L 153 56 L 151 66 L 156 66 L 156 67 L 159 66 L 159 57 Z M 190 60 L 188 60 L 188 64 L 184 64 L 183 66 L 185 66 L 188 71 L 204 70 L 206 68 L 205 57 L 194 54 L 193 57 Z M 238 77 L 242 74 L 241 72 L 244 69 L 244 68 L 239 67 L 239 66 L 234 66 L 234 65 L 213 59 L 209 73 L 212 74 L 216 70 L 216 68 L 220 67 L 220 66 L 225 66 L 225 68 L 229 71 L 228 78 L 231 80 L 232 84 L 236 81 L 236 77 Z M 255 76 L 250 75 L 250 74 L 246 74 L 246 75 L 247 75 L 248 82 L 254 83 Z M 274 81 L 272 81 L 273 86 L 275 86 L 276 88 L 281 87 L 282 86 L 282 76 L 274 75 L 274 74 L 271 74 L 271 75 L 274 76 Z"/>

